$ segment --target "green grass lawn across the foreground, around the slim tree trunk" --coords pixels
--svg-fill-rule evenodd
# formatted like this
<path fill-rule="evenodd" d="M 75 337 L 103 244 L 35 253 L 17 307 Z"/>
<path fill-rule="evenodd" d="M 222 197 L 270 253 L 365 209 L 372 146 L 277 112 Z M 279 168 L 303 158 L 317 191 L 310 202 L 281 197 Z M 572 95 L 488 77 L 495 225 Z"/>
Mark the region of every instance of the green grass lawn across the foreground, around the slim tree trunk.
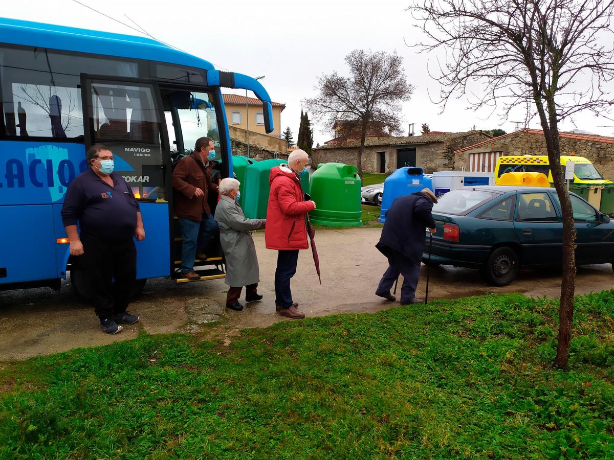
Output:
<path fill-rule="evenodd" d="M 519 294 L 0 364 L 0 458 L 613 458 L 614 293 Z"/>

